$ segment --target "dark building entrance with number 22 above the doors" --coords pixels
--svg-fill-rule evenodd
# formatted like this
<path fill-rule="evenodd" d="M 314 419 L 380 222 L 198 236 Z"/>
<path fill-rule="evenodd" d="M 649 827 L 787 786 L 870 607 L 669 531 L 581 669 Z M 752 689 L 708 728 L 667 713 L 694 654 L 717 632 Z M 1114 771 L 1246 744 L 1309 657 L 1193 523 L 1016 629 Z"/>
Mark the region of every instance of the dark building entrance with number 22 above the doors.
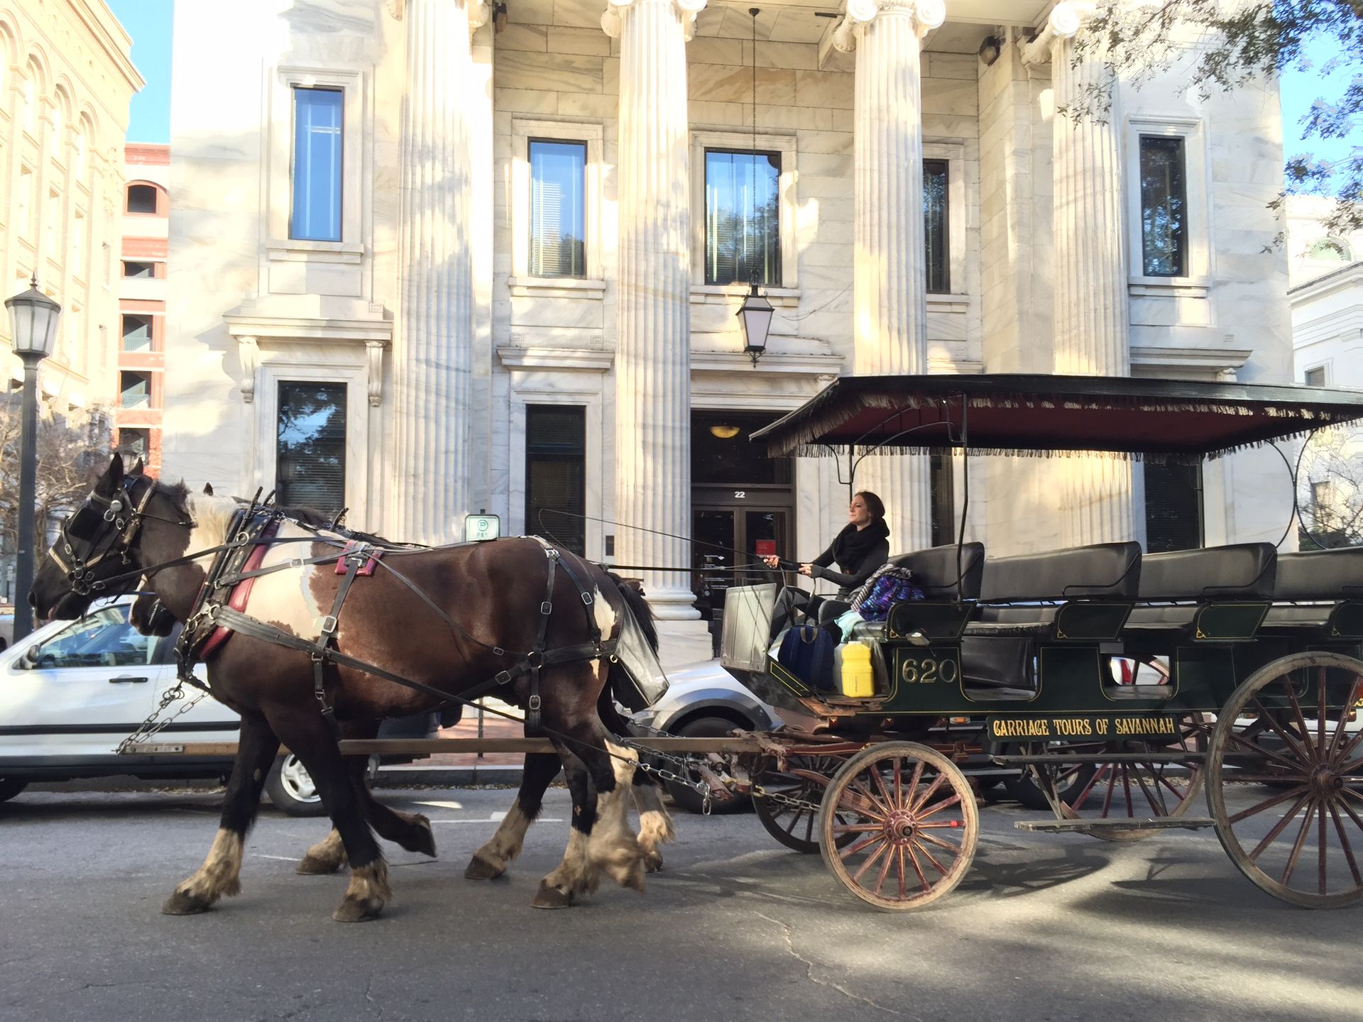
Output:
<path fill-rule="evenodd" d="M 778 416 L 691 414 L 691 564 L 696 608 L 710 619 L 724 591 L 761 580 L 761 557 L 791 556 L 795 492 L 789 458 L 767 458 L 748 436 Z"/>

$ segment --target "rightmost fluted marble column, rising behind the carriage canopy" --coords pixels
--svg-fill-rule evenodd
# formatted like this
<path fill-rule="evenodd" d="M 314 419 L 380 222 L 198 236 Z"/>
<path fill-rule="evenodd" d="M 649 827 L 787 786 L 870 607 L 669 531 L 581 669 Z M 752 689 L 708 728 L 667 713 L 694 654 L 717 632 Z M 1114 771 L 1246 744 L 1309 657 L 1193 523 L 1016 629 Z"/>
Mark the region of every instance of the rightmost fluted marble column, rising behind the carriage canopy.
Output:
<path fill-rule="evenodd" d="M 1050 60 L 1056 106 L 1051 135 L 1055 372 L 1129 376 L 1130 313 L 1116 95 L 1105 117 L 1074 113 L 1086 95 L 1107 84 L 1101 63 L 1074 61 L 1073 40 L 1089 10 L 1092 4 L 1058 4 L 1043 38 L 1026 50 L 1029 60 Z M 1062 545 L 1135 538 L 1130 462 L 1066 458 L 1052 467 Z"/>

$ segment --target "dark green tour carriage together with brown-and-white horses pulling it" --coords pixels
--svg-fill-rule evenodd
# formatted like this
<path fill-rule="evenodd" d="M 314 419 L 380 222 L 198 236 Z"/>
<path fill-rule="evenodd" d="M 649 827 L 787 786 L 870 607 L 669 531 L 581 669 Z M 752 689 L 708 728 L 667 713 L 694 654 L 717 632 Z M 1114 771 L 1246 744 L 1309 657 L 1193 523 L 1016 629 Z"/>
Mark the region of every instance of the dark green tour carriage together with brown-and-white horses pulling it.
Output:
<path fill-rule="evenodd" d="M 845 448 L 852 463 L 872 450 L 1199 462 L 1359 418 L 1363 394 L 1295 387 L 845 377 L 754 439 L 773 455 Z M 660 809 L 646 809 L 635 848 L 624 823 L 620 796 L 631 771 L 638 782 L 643 749 L 694 767 L 711 788 L 747 785 L 778 839 L 821 850 L 853 894 L 883 909 L 930 905 L 969 869 L 979 807 L 960 763 L 981 756 L 1024 767 L 1055 811 L 1055 820 L 1018 826 L 1108 839 L 1214 826 L 1242 872 L 1278 898 L 1310 908 L 1363 898 L 1353 850 L 1363 843 L 1360 549 L 1142 555 L 1134 542 L 1107 542 L 991 559 L 962 537 L 897 559 L 925 598 L 856 625 L 875 665 L 871 692 L 856 698 L 818 690 L 773 655 L 774 583 L 731 589 L 724 664 L 814 726 L 612 743 L 601 726 L 615 715 L 608 694 L 627 688 L 617 669 L 641 660 L 622 623 L 646 623 L 647 612 L 598 566 L 542 541 L 418 551 L 254 511 L 124 476 L 114 459 L 64 523 L 34 587 L 40 612 L 72 616 L 146 574 L 204 642 L 224 630 L 240 636 L 210 661 L 219 698 L 243 713 L 222 830 L 166 912 L 202 912 L 236 891 L 256 767 L 282 740 L 324 785 L 337 826 L 300 871 L 348 857 L 337 917 L 372 918 L 387 880 L 371 827 L 410 849 L 433 853 L 433 842 L 423 818 L 375 803 L 363 770 L 348 774 L 341 756 L 472 748 L 375 743 L 365 728 L 372 739 L 379 717 L 493 690 L 533 715 L 542 710 L 542 737 L 496 743 L 527 754 L 526 781 L 466 876 L 507 868 L 562 764 L 574 830 L 536 898 L 542 906 L 571 903 L 601 872 L 642 883 L 669 833 Z M 278 531 L 266 536 L 271 522 Z M 206 557 L 217 559 L 207 571 Z M 252 579 L 244 613 L 228 594 Z M 206 593 L 221 597 L 204 602 Z M 412 643 L 406 630 L 420 621 L 433 631 Z M 333 715 L 358 737 L 338 745 Z M 1210 815 L 1194 816 L 1204 786 Z"/>

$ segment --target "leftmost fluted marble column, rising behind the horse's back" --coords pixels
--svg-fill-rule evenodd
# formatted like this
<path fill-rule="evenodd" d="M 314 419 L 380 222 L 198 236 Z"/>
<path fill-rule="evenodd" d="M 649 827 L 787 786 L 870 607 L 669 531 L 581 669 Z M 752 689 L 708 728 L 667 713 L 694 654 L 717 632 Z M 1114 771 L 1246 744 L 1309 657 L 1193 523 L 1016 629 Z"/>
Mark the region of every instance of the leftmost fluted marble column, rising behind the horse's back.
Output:
<path fill-rule="evenodd" d="M 393 533 L 450 542 L 468 508 L 473 397 L 470 33 L 476 0 L 390 0 L 406 20 L 394 341 Z"/>

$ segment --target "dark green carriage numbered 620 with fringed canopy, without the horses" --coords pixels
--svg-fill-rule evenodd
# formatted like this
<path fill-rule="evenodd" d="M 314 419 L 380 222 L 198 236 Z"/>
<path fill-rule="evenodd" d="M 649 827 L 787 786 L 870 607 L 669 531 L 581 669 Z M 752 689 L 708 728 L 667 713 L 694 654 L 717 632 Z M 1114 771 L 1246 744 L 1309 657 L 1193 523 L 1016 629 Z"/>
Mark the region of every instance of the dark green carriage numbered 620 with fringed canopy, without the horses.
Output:
<path fill-rule="evenodd" d="M 844 377 L 754 440 L 969 455 L 1094 451 L 1199 461 L 1363 417 L 1363 395 L 1055 376 Z M 965 875 L 969 756 L 1024 767 L 1056 820 L 1131 841 L 1213 826 L 1240 871 L 1308 908 L 1363 898 L 1363 549 L 1273 544 L 1146 553 L 1108 542 L 988 557 L 960 542 L 891 559 L 925 598 L 864 621 L 874 692 L 830 695 L 778 660 L 777 586 L 731 590 L 722 661 L 821 724 L 756 775 L 782 843 L 822 850 L 883 909 Z M 954 725 L 951 722 L 955 722 Z M 1209 816 L 1194 816 L 1206 788 Z"/>

